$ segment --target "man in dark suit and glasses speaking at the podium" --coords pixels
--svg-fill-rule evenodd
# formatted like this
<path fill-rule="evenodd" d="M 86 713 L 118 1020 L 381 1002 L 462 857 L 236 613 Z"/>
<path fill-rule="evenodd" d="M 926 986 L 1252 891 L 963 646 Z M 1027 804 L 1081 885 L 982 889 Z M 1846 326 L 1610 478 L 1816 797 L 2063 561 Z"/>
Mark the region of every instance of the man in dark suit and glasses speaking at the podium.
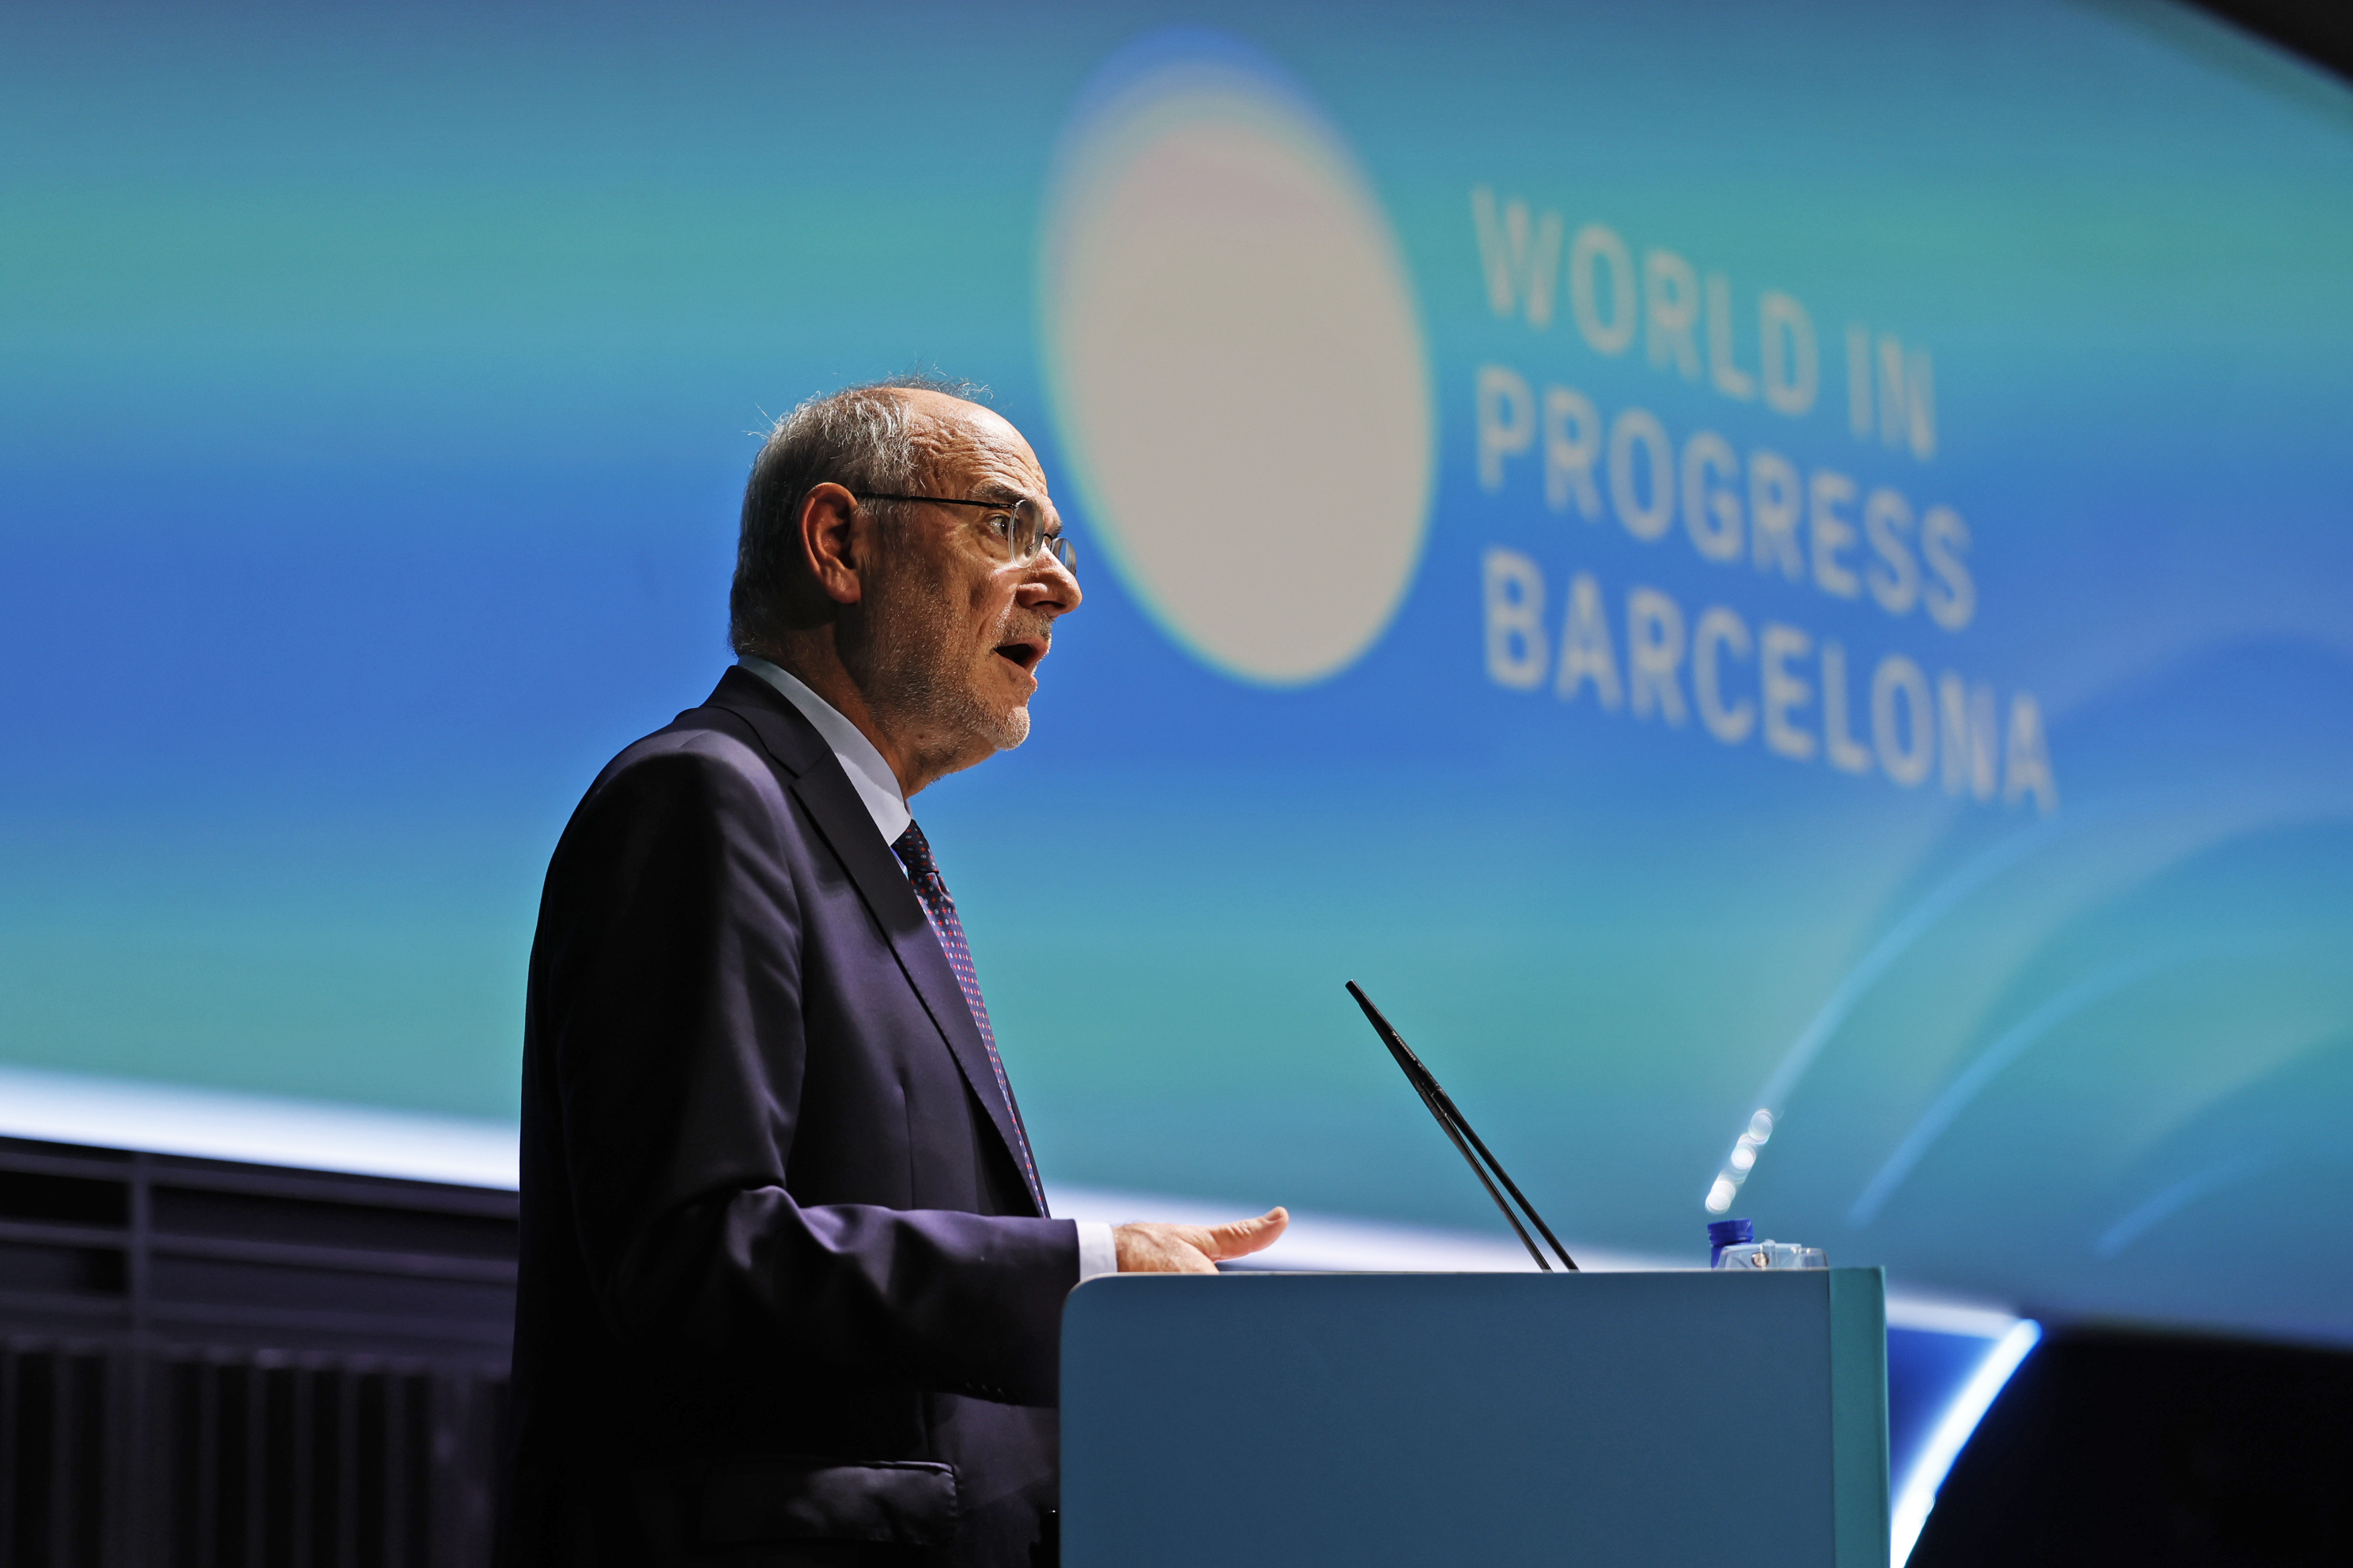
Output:
<path fill-rule="evenodd" d="M 1047 1218 L 906 806 L 1028 733 L 1059 534 L 1021 435 L 936 383 L 802 404 L 753 465 L 741 663 L 548 865 L 515 1568 L 1049 1561 L 1064 1295 L 1282 1232 Z"/>

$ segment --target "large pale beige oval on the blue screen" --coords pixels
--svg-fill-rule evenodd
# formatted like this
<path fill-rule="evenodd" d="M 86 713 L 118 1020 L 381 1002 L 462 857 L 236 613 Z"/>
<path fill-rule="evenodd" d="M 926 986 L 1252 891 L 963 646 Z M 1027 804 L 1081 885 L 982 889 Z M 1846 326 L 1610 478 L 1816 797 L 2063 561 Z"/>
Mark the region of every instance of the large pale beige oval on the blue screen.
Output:
<path fill-rule="evenodd" d="M 1304 684 L 1381 635 L 1428 520 L 1421 324 L 1348 150 L 1198 40 L 1089 94 L 1040 259 L 1054 418 L 1125 583 L 1231 675 Z"/>

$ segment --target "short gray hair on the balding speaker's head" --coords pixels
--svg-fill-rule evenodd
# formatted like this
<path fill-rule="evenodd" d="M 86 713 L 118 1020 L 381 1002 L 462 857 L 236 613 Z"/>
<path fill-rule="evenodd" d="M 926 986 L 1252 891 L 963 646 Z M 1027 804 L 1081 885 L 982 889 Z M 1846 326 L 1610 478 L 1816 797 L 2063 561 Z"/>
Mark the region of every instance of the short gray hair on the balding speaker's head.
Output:
<path fill-rule="evenodd" d="M 807 597 L 800 505 L 828 480 L 854 496 L 922 489 L 922 451 L 904 397 L 894 393 L 979 397 L 988 388 L 944 376 L 892 376 L 809 397 L 776 421 L 744 484 L 736 574 L 727 590 L 727 642 L 736 654 L 776 646 L 793 625 L 793 602 Z M 866 508 L 885 529 L 896 505 Z"/>

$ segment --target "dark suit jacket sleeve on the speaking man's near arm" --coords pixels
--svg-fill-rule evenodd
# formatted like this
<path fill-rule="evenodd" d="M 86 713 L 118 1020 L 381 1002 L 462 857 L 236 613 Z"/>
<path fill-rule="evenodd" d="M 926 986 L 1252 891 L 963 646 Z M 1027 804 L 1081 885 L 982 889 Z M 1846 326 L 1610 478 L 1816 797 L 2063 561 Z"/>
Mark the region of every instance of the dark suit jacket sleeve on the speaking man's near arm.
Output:
<path fill-rule="evenodd" d="M 776 776 L 706 733 L 616 764 L 551 863 L 532 1011 L 605 1324 L 715 1366 L 793 1347 L 859 1382 L 1052 1403 L 1068 1220 L 786 1192 L 812 1048 L 795 832 Z"/>

